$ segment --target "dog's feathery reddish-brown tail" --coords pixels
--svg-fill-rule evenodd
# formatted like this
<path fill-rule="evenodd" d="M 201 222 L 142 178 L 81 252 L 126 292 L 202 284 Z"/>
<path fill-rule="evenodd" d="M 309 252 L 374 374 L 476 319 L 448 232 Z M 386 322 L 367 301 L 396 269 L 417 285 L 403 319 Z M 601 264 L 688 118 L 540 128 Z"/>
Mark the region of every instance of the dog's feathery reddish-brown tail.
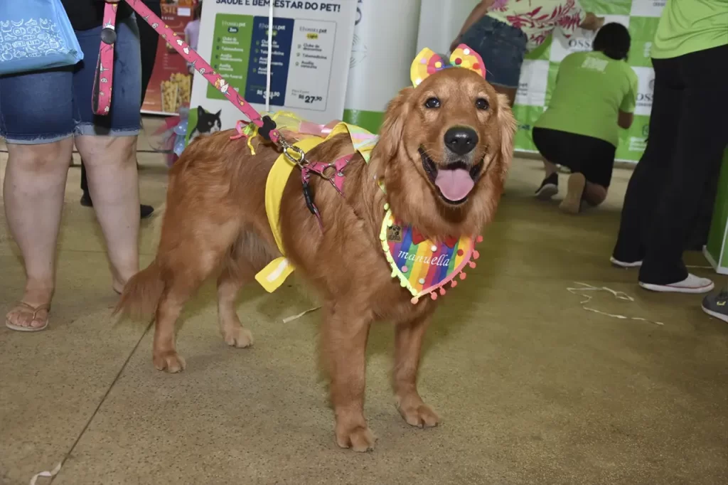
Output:
<path fill-rule="evenodd" d="M 121 312 L 134 320 L 149 321 L 157 312 L 162 291 L 165 291 L 162 271 L 157 260 L 154 260 L 149 267 L 142 269 L 127 281 L 119 303 L 114 308 L 114 315 Z"/>

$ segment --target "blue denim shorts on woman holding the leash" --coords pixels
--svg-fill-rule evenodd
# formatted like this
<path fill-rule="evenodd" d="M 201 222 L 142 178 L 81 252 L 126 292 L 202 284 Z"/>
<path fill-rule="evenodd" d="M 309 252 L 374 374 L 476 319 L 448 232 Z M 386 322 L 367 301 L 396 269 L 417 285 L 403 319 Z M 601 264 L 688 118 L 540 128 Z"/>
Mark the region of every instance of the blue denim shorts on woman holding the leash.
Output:
<path fill-rule="evenodd" d="M 136 19 L 116 23 L 114 92 L 106 116 L 91 98 L 101 27 L 76 31 L 84 60 L 76 66 L 0 76 L 0 136 L 36 145 L 74 135 L 133 136 L 141 126 L 141 50 Z"/>

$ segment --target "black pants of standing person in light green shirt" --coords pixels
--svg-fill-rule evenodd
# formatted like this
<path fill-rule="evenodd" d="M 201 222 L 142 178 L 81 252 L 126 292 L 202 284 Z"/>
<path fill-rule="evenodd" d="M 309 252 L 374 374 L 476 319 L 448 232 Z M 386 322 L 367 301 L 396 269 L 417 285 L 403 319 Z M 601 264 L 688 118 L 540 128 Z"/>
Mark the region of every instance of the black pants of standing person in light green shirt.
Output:
<path fill-rule="evenodd" d="M 728 45 L 654 59 L 649 140 L 625 195 L 614 258 L 643 264 L 639 280 L 687 277 L 683 248 L 728 144 Z"/>

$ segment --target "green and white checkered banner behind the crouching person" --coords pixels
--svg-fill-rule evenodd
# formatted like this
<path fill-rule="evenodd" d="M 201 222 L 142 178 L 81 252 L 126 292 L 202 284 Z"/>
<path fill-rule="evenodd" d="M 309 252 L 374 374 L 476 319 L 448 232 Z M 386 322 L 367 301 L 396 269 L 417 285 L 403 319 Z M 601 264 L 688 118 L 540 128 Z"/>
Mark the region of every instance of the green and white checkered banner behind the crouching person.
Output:
<path fill-rule="evenodd" d="M 654 71 L 649 52 L 652 39 L 666 0 L 580 0 L 582 7 L 596 15 L 606 17 L 606 23 L 625 25 L 632 36 L 628 63 L 639 79 L 635 120 L 629 130 L 620 129 L 617 159 L 637 162 L 647 138 L 649 114 L 652 111 Z M 539 49 L 526 56 L 521 70 L 521 82 L 515 99 L 514 114 L 519 129 L 515 148 L 536 151 L 531 138 L 534 122 L 548 106 L 555 84 L 559 63 L 571 52 L 591 50 L 595 34 L 578 29 L 576 35 L 566 39 L 556 31 Z"/>

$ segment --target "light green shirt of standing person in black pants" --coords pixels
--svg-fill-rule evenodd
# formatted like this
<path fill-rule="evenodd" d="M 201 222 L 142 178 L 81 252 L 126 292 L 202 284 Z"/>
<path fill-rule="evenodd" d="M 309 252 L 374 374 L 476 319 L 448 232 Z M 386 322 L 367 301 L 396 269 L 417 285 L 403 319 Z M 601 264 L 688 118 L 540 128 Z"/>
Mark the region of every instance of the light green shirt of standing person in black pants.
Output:
<path fill-rule="evenodd" d="M 728 0 L 668 0 L 652 43 L 655 59 L 728 44 Z"/>

